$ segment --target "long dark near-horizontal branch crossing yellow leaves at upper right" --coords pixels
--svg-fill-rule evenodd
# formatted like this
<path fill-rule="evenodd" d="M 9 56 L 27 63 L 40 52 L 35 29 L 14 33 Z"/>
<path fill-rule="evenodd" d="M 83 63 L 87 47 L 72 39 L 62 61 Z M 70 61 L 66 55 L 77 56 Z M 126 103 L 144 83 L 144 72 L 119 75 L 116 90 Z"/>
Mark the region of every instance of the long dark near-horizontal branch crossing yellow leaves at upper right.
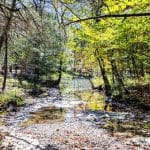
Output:
<path fill-rule="evenodd" d="M 78 20 L 75 20 L 75 21 L 68 22 L 65 25 L 67 26 L 67 25 L 70 25 L 70 24 L 73 24 L 73 23 L 78 23 L 78 22 L 87 21 L 87 20 L 94 20 L 94 19 L 98 19 L 98 18 L 122 18 L 122 17 L 127 18 L 127 17 L 144 17 L 144 16 L 150 16 L 150 13 L 101 15 L 101 16 L 78 19 Z"/>

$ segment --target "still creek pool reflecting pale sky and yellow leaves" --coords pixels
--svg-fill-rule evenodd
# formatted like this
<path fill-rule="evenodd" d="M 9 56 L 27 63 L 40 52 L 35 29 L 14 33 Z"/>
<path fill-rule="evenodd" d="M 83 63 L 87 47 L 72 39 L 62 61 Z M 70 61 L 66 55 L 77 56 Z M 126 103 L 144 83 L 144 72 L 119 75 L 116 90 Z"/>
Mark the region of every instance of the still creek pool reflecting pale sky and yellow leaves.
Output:
<path fill-rule="evenodd" d="M 61 83 L 62 95 L 67 95 L 68 101 L 71 99 L 78 99 L 85 102 L 86 109 L 91 110 L 107 110 L 111 111 L 111 104 L 105 103 L 105 96 L 102 92 L 92 91 L 91 84 L 88 79 L 76 77 L 74 79 L 64 80 Z M 75 94 L 75 95 L 74 95 Z M 71 98 L 70 98 L 70 95 Z"/>

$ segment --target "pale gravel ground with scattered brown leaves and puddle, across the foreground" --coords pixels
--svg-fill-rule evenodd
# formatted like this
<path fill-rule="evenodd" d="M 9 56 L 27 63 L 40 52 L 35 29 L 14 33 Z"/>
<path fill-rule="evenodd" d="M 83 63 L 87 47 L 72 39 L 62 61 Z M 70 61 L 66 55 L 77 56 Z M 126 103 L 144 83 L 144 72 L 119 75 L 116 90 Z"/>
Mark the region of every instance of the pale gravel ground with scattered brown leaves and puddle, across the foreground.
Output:
<path fill-rule="evenodd" d="M 103 129 L 110 118 L 134 119 L 126 112 L 76 111 L 81 104 L 62 100 L 57 89 L 48 96 L 26 99 L 17 112 L 0 118 L 1 149 L 4 150 L 149 150 L 150 138 L 132 132 Z M 70 97 L 71 98 L 71 97 Z M 148 114 L 145 115 L 147 119 Z M 128 120 L 130 121 L 130 120 Z M 138 129 L 137 129 L 138 130 Z"/>

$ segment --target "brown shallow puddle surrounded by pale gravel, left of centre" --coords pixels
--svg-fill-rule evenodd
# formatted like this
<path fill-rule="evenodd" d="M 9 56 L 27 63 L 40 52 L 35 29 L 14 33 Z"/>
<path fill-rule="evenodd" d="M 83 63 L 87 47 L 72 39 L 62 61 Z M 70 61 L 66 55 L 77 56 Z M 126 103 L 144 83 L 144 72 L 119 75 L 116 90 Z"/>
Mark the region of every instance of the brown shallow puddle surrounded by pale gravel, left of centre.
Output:
<path fill-rule="evenodd" d="M 54 106 L 44 107 L 32 113 L 31 117 L 22 125 L 28 126 L 33 124 L 61 122 L 64 120 L 65 114 L 66 111 L 63 108 L 56 108 Z"/>

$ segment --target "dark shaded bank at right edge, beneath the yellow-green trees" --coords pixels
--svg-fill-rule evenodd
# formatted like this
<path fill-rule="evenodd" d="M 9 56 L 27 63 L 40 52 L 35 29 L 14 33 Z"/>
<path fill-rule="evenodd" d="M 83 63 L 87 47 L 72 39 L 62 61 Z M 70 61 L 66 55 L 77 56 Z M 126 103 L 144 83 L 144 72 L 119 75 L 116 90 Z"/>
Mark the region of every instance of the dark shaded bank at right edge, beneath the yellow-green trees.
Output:
<path fill-rule="evenodd" d="M 113 98 L 114 107 L 123 111 L 150 113 L 150 84 L 130 86 L 128 90 L 130 94 Z"/>

